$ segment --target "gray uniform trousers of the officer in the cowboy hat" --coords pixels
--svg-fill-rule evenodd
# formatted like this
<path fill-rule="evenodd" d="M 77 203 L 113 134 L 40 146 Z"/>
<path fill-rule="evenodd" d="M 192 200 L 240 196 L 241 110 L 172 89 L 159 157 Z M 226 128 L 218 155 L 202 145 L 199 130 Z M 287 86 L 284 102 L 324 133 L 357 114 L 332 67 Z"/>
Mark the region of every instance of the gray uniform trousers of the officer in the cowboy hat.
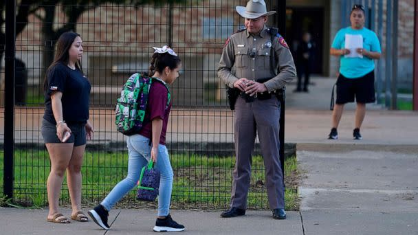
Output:
<path fill-rule="evenodd" d="M 280 102 L 276 96 L 269 100 L 245 102 L 236 99 L 234 113 L 235 168 L 230 206 L 246 209 L 251 177 L 251 155 L 256 133 L 259 134 L 265 166 L 265 180 L 270 209 L 285 208 L 283 174 L 278 155 L 278 120 Z"/>

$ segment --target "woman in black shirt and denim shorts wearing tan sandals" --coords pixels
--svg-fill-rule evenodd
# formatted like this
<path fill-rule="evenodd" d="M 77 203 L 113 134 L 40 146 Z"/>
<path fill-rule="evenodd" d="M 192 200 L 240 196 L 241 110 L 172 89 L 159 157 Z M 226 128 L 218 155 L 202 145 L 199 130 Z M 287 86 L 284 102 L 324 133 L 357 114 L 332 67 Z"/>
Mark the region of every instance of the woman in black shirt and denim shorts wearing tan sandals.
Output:
<path fill-rule="evenodd" d="M 45 114 L 42 135 L 51 160 L 47 179 L 50 212 L 47 221 L 69 223 L 58 210 L 58 199 L 67 171 L 67 184 L 72 203 L 71 218 L 86 222 L 81 210 L 81 164 L 87 139 L 93 128 L 89 124 L 90 82 L 83 74 L 80 59 L 83 46 L 80 34 L 65 32 L 58 38 L 54 62 L 45 76 Z"/>

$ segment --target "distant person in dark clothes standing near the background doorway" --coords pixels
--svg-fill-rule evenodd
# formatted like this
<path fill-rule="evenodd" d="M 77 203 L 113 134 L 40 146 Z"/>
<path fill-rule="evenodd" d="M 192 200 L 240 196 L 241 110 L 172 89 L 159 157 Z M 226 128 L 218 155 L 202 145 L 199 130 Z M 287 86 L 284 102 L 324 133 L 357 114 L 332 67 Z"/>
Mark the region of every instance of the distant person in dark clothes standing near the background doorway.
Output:
<path fill-rule="evenodd" d="M 294 92 L 308 92 L 309 76 L 311 75 L 314 59 L 314 43 L 311 42 L 311 34 L 305 32 L 302 41 L 296 49 L 296 70 L 298 71 L 298 86 Z M 302 89 L 302 76 L 305 75 Z"/>

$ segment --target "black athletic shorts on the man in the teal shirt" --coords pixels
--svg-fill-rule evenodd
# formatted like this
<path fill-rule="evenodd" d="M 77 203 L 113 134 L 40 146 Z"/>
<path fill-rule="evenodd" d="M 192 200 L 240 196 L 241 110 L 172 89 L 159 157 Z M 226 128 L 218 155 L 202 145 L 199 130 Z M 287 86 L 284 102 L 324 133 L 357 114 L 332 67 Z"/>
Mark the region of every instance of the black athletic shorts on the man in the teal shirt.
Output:
<path fill-rule="evenodd" d="M 349 102 L 373 103 L 375 102 L 375 72 L 371 71 L 360 78 L 346 78 L 342 74 L 337 80 L 336 104 Z"/>

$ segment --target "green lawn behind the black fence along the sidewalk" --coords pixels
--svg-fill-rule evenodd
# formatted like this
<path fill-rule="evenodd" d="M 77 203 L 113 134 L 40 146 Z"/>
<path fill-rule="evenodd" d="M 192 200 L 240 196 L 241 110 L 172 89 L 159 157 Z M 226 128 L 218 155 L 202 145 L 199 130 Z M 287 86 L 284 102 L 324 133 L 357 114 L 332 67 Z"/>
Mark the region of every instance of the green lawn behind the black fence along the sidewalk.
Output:
<path fill-rule="evenodd" d="M 234 157 L 207 157 L 201 155 L 171 155 L 175 172 L 172 208 L 199 208 L 216 210 L 227 208 L 230 201 Z M 3 154 L 0 167 L 3 169 Z M 50 160 L 44 150 L 16 150 L 14 157 L 14 204 L 33 207 L 47 205 L 46 180 Z M 298 210 L 297 185 L 299 174 L 296 157 L 285 161 L 286 209 Z M 98 203 L 126 176 L 127 153 L 87 151 L 83 163 L 83 204 Z M 3 182 L 3 174 L 0 175 Z M 2 187 L 2 186 L 1 186 Z M 120 207 L 155 207 L 155 203 L 135 200 L 135 191 L 118 204 Z M 0 205 L 5 204 L 0 194 Z M 61 204 L 69 204 L 68 190 L 64 184 Z M 252 159 L 252 180 L 248 195 L 249 209 L 267 209 L 263 158 Z"/>

